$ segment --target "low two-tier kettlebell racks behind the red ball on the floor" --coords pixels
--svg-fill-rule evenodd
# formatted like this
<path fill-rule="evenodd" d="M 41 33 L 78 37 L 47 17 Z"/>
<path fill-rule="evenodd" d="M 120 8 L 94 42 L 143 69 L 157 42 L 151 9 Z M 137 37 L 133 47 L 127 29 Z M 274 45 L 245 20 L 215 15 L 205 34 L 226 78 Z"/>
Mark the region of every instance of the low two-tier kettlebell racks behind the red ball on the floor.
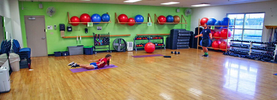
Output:
<path fill-rule="evenodd" d="M 134 38 L 134 47 L 135 47 L 135 50 L 137 51 L 137 47 L 144 47 L 145 44 L 147 44 L 148 42 L 136 44 L 136 40 L 148 40 L 148 42 L 151 42 L 151 40 L 163 40 L 162 43 L 154 42 L 153 44 L 155 46 L 160 46 L 161 48 L 163 47 L 165 49 L 163 36 L 150 36 L 150 37 L 149 36 L 145 36 L 145 37 L 136 36 Z"/>

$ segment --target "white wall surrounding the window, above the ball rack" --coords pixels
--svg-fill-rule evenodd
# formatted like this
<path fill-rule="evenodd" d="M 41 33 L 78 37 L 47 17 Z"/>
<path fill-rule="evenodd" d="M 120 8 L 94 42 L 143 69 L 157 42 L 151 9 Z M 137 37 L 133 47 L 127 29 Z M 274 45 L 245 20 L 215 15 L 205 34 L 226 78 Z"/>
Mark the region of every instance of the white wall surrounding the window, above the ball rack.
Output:
<path fill-rule="evenodd" d="M 265 12 L 264 25 L 277 25 L 277 0 L 267 2 L 243 3 L 192 8 L 191 31 L 198 27 L 203 17 L 223 19 L 227 13 Z M 196 33 L 197 34 L 197 33 Z M 267 29 L 263 27 L 262 41 L 267 40 Z"/>

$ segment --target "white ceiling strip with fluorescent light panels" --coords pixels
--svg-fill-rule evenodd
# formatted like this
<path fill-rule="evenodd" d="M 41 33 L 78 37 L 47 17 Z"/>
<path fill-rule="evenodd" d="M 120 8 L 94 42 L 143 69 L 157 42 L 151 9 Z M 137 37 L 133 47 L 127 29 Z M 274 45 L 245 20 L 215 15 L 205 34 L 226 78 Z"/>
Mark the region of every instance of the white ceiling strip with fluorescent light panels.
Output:
<path fill-rule="evenodd" d="M 142 0 L 134 3 L 124 2 L 127 0 L 19 0 L 19 1 L 34 1 L 34 2 L 82 2 L 82 3 L 108 3 L 108 4 L 126 4 L 126 5 L 154 5 L 154 6 L 168 6 L 168 7 L 186 7 L 186 8 L 195 8 L 191 5 L 198 5 L 199 3 L 210 3 L 209 6 L 216 5 L 232 5 L 240 3 L 250 3 L 250 2 L 263 2 L 263 1 L 272 1 L 272 0 Z M 233 1 L 248 1 L 248 2 L 233 2 Z M 178 4 L 172 5 L 161 5 L 161 3 L 167 2 L 180 2 Z"/>

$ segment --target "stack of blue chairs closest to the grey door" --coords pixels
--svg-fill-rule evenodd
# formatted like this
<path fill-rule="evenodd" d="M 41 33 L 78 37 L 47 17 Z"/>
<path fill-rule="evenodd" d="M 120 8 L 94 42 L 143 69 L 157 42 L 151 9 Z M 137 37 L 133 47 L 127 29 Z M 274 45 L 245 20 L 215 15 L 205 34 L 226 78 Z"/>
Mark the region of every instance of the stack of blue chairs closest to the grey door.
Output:
<path fill-rule="evenodd" d="M 18 54 L 20 60 L 27 60 L 29 69 L 31 68 L 31 48 L 21 48 L 17 40 L 13 40 L 14 53 Z"/>

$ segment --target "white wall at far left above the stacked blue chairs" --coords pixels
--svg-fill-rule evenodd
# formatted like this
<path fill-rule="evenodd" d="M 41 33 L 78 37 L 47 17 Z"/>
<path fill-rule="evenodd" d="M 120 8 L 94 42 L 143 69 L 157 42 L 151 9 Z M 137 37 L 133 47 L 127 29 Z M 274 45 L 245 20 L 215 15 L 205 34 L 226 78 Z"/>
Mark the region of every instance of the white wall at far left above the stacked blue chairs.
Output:
<path fill-rule="evenodd" d="M 12 28 L 14 39 L 23 48 L 18 0 L 0 0 L 0 15 L 11 19 L 12 27 L 8 28 Z"/>

